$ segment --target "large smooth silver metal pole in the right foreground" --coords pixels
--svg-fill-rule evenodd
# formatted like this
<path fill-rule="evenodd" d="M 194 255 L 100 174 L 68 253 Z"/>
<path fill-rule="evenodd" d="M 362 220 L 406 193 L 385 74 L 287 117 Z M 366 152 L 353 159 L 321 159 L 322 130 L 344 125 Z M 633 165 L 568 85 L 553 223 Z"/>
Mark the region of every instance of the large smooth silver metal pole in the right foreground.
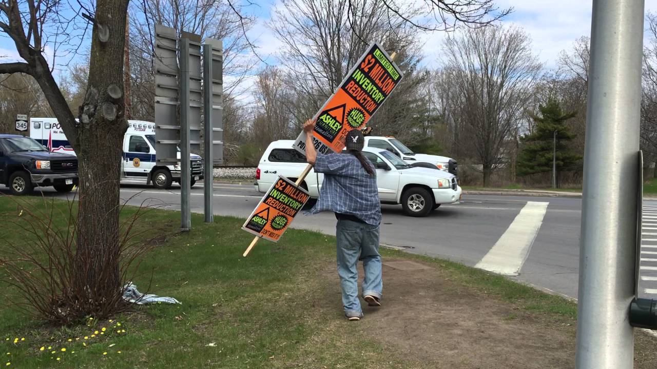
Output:
<path fill-rule="evenodd" d="M 643 0 L 593 1 L 576 367 L 633 368 Z"/>

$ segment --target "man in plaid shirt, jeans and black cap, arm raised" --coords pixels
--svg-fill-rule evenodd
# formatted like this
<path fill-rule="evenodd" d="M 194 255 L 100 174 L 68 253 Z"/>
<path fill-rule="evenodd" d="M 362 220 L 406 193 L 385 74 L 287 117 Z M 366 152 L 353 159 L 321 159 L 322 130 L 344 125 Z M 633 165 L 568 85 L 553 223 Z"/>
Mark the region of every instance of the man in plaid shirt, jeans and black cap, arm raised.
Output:
<path fill-rule="evenodd" d="M 345 154 L 317 153 L 312 141 L 315 121 L 304 124 L 306 131 L 306 160 L 314 165 L 315 172 L 324 173 L 324 183 L 317 204 L 309 211 L 333 211 L 338 224 L 337 259 L 338 275 L 342 287 L 344 315 L 349 320 L 360 320 L 363 311 L 358 299 L 358 272 L 356 265 L 363 261 L 363 299 L 369 306 L 381 305 L 381 255 L 378 253 L 381 205 L 376 186 L 374 165 L 363 156 L 363 133 L 348 131 L 344 144 Z"/>

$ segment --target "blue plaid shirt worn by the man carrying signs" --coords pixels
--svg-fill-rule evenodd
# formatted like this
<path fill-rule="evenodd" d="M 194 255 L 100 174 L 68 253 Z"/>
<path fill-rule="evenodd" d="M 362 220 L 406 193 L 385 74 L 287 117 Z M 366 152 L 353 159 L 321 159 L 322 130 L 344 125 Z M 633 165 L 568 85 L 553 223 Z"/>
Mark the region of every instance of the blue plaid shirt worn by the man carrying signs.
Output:
<path fill-rule="evenodd" d="M 372 163 L 367 161 L 369 165 Z M 317 153 L 315 172 L 324 173 L 317 204 L 307 214 L 334 211 L 361 219 L 369 225 L 381 223 L 376 177 L 370 177 L 351 154 Z"/>

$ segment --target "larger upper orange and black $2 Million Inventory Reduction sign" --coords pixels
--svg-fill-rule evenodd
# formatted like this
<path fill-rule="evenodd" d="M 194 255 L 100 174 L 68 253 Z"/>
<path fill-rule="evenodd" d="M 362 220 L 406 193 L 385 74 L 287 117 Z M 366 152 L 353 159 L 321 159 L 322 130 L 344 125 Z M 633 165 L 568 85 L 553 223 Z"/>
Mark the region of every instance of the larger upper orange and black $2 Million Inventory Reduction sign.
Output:
<path fill-rule="evenodd" d="M 313 131 L 317 151 L 323 154 L 342 151 L 347 132 L 367 123 L 401 77 L 401 71 L 386 51 L 376 43 L 371 45 L 313 118 L 317 123 Z M 294 148 L 306 154 L 306 133 L 297 137 Z"/>

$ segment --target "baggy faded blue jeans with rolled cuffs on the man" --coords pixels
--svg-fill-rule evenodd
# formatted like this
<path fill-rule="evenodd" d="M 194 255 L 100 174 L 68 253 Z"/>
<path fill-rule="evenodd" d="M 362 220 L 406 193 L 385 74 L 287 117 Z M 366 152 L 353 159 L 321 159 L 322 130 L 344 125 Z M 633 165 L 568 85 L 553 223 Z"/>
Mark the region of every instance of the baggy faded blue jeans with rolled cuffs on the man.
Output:
<path fill-rule="evenodd" d="M 336 226 L 338 238 L 338 275 L 342 287 L 342 305 L 346 316 L 362 316 L 358 299 L 358 271 L 356 265 L 363 261 L 365 278 L 363 296 L 382 297 L 381 255 L 378 253 L 379 227 L 365 223 L 339 220 Z"/>

